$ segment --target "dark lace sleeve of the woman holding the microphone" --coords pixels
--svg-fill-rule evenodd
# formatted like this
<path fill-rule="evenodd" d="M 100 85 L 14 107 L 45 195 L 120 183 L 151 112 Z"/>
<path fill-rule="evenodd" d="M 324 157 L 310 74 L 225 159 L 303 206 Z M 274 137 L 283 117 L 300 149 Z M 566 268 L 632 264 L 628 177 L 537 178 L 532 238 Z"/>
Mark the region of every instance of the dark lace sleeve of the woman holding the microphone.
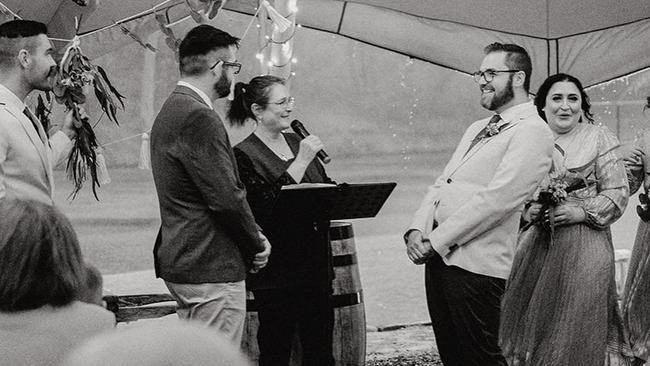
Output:
<path fill-rule="evenodd" d="M 270 217 L 275 198 L 283 185 L 295 184 L 286 171 L 280 177 L 269 182 L 256 169 L 250 157 L 239 149 L 234 149 L 239 176 L 246 186 L 246 199 L 258 223 L 262 224 Z"/>

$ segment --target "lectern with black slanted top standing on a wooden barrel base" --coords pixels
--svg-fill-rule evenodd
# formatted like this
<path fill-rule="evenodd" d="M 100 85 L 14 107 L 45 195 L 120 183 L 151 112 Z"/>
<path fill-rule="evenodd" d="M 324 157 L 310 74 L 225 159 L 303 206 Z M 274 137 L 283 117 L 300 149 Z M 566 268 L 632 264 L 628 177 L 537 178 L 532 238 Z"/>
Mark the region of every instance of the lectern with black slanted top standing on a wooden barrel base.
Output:
<path fill-rule="evenodd" d="M 288 225 L 293 220 L 323 221 L 375 217 L 396 185 L 306 183 L 283 186 L 273 207 L 273 216 Z M 329 237 L 334 281 L 331 284 L 327 281 L 327 286 L 332 286 L 333 291 L 334 360 L 336 366 L 362 366 L 366 357 L 366 315 L 352 224 L 332 221 Z M 259 357 L 259 323 L 255 308 L 255 299 L 249 292 L 242 348 L 253 360 Z M 294 339 L 292 366 L 301 364 L 300 354 L 300 342 Z"/>

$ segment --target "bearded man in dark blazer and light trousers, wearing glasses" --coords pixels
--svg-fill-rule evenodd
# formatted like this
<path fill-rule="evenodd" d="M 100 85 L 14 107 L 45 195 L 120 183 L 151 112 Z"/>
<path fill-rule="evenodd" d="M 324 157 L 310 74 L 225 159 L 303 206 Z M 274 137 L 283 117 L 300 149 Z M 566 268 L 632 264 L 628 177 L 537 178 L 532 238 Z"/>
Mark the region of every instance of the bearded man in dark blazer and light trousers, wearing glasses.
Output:
<path fill-rule="evenodd" d="M 182 319 L 216 328 L 239 345 L 246 318 L 247 270 L 266 265 L 270 244 L 258 230 L 234 153 L 212 100 L 230 93 L 238 39 L 210 25 L 179 47 L 181 80 L 151 129 L 151 167 L 161 228 L 156 275 Z"/>

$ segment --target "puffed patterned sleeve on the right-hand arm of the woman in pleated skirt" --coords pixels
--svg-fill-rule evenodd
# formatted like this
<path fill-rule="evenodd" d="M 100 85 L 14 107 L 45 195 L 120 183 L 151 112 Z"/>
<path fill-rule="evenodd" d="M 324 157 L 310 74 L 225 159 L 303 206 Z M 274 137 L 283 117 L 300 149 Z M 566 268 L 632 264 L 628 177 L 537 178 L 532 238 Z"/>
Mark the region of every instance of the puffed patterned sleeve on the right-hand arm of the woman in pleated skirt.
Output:
<path fill-rule="evenodd" d="M 611 225 L 625 211 L 629 196 L 625 165 L 616 149 L 618 139 L 603 128 L 598 135 L 595 197 L 583 201 L 587 224 L 598 229 Z"/>

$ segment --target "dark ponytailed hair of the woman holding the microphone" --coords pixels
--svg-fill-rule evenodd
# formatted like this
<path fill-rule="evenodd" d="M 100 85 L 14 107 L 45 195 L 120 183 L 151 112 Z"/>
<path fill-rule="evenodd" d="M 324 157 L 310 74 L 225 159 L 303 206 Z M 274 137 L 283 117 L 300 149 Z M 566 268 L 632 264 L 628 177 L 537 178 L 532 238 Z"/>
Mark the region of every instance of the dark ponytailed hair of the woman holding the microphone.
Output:
<path fill-rule="evenodd" d="M 235 84 L 235 98 L 228 109 L 230 125 L 242 126 L 247 118 L 255 119 L 251 106 L 268 104 L 269 91 L 277 84 L 285 85 L 285 81 L 273 75 L 256 76 L 248 84 Z"/>

